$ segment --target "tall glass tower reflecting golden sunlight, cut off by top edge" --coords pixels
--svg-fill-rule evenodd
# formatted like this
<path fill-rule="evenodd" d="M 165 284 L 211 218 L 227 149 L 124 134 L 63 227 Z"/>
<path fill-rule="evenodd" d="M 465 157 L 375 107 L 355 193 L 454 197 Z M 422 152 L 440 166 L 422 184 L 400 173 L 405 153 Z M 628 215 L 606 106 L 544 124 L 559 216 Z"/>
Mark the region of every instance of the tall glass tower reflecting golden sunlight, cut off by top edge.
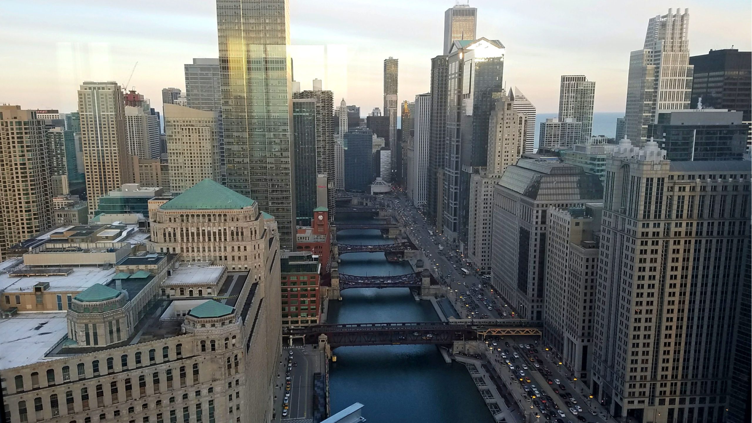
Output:
<path fill-rule="evenodd" d="M 293 248 L 287 0 L 217 0 L 227 187 L 277 219 Z"/>

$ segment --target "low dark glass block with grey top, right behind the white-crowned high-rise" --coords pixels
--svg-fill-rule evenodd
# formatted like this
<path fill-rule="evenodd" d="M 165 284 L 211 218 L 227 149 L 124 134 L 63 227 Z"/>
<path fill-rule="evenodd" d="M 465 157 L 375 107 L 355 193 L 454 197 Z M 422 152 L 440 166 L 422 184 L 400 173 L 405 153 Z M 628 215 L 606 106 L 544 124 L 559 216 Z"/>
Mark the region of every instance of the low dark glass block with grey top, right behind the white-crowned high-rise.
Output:
<path fill-rule="evenodd" d="M 747 150 L 749 127 L 741 111 L 659 111 L 648 135 L 675 161 L 741 160 Z"/>

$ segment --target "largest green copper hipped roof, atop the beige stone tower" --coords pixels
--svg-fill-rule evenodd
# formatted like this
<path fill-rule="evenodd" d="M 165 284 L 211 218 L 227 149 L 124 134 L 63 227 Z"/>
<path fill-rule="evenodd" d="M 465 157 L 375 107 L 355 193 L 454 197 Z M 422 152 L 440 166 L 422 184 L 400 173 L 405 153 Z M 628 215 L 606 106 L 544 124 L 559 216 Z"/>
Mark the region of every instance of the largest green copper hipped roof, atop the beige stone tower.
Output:
<path fill-rule="evenodd" d="M 204 179 L 165 204 L 163 210 L 229 210 L 250 207 L 255 201 L 235 191 Z"/>

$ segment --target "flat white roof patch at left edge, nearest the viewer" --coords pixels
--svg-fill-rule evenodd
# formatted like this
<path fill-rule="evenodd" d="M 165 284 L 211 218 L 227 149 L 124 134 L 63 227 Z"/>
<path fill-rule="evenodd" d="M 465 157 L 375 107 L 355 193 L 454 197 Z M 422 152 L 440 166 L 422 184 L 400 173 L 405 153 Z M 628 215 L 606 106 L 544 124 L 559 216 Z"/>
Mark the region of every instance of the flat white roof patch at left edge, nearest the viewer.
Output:
<path fill-rule="evenodd" d="M 44 361 L 44 355 L 68 333 L 65 312 L 18 313 L 0 319 L 0 370 Z"/>

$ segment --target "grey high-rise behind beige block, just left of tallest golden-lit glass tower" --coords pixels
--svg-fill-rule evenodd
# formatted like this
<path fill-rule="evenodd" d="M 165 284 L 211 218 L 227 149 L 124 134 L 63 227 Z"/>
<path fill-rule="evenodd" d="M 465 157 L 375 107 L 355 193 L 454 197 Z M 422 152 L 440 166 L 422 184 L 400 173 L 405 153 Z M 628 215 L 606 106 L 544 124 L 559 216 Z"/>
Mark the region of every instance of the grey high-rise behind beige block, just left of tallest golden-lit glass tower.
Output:
<path fill-rule="evenodd" d="M 220 59 L 193 59 L 183 65 L 188 107 L 206 111 L 222 110 Z"/>

